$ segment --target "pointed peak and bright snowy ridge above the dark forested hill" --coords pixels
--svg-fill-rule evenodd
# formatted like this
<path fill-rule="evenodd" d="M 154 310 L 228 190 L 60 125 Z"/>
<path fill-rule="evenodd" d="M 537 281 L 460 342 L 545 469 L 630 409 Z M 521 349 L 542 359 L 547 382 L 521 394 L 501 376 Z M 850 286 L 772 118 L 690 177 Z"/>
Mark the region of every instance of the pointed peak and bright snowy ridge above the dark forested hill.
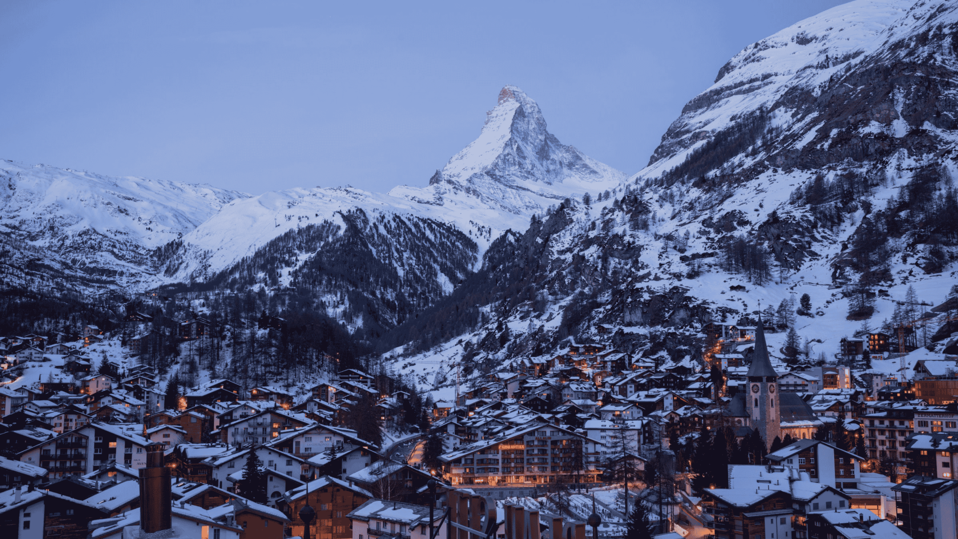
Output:
<path fill-rule="evenodd" d="M 167 281 L 187 282 L 228 268 L 268 241 L 308 223 L 336 221 L 359 208 L 450 223 L 478 244 L 529 219 L 562 199 L 615 190 L 623 173 L 563 146 L 546 130 L 536 105 L 522 90 L 506 86 L 482 133 L 453 156 L 427 187 L 402 185 L 388 194 L 353 187 L 297 188 L 227 204 L 183 238 L 183 263 Z"/>

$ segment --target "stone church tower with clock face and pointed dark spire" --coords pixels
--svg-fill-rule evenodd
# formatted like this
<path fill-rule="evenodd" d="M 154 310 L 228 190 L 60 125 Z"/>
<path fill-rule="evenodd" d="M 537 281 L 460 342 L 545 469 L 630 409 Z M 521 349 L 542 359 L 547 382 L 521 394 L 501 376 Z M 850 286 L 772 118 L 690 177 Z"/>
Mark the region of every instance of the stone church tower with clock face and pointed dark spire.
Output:
<path fill-rule="evenodd" d="M 782 432 L 782 415 L 779 413 L 778 373 L 768 360 L 768 346 L 762 319 L 755 331 L 755 353 L 748 367 L 748 389 L 745 392 L 745 410 L 748 410 L 752 428 L 762 434 L 765 447 L 771 447 L 775 436 Z"/>

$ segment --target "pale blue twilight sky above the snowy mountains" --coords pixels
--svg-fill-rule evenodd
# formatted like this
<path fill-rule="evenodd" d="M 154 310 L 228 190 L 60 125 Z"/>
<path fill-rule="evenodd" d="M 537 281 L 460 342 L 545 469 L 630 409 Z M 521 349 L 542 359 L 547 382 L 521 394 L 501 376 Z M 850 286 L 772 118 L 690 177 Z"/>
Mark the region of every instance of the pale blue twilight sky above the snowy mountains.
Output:
<path fill-rule="evenodd" d="M 425 185 L 499 89 L 628 174 L 745 45 L 841 2 L 0 4 L 0 158 L 259 194 Z"/>

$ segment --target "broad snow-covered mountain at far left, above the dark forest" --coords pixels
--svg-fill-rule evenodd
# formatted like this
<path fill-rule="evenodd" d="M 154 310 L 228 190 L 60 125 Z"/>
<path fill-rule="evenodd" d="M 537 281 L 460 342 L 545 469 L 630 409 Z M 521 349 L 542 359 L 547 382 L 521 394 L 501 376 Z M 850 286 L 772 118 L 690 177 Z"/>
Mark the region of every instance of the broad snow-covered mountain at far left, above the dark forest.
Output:
<path fill-rule="evenodd" d="M 69 288 L 73 279 L 143 287 L 152 281 L 154 248 L 244 197 L 248 195 L 209 185 L 2 161 L 3 286 L 53 286 L 51 278 L 57 275 L 62 288 Z"/>

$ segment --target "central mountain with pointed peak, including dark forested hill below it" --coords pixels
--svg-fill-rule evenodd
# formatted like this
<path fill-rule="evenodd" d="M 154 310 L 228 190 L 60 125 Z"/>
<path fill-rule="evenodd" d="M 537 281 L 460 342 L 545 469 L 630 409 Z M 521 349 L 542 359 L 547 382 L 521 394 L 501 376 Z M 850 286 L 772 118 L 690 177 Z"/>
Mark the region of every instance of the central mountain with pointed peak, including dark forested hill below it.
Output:
<path fill-rule="evenodd" d="M 237 199 L 159 253 L 166 282 L 191 290 L 283 287 L 376 338 L 476 269 L 490 241 L 563 199 L 621 188 L 625 177 L 546 130 L 506 86 L 479 138 L 427 187 L 388 195 L 352 187 Z"/>

